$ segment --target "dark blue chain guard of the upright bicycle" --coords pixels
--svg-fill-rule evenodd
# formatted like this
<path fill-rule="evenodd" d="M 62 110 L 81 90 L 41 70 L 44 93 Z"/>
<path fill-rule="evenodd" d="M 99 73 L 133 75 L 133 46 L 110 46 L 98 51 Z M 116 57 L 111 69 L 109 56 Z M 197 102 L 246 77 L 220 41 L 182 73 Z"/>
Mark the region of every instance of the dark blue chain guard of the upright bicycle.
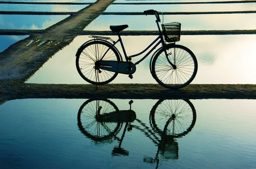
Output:
<path fill-rule="evenodd" d="M 96 65 L 99 64 L 99 65 Z M 98 66 L 98 67 L 97 67 Z M 95 62 L 95 68 L 102 70 L 108 70 L 111 72 L 117 72 L 122 74 L 133 74 L 136 71 L 136 66 L 132 62 L 122 61 L 105 61 Z"/>

